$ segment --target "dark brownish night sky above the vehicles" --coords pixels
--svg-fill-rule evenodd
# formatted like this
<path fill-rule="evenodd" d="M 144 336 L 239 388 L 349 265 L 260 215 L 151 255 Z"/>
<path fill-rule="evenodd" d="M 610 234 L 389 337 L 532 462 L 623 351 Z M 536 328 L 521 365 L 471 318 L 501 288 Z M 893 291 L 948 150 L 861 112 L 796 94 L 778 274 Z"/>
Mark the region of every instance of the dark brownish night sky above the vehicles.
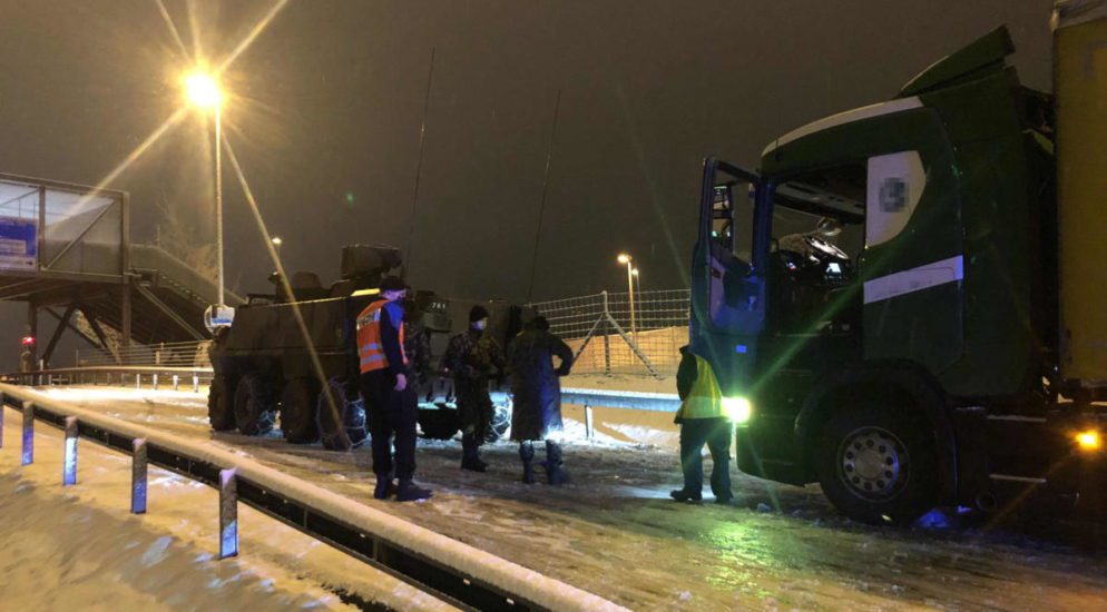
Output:
<path fill-rule="evenodd" d="M 212 61 L 273 7 L 165 3 Z M 341 245 L 413 234 L 413 285 L 521 300 L 560 89 L 533 298 L 619 290 L 620 250 L 644 289 L 678 288 L 706 155 L 755 166 L 774 136 L 885 100 L 1001 23 L 1023 82 L 1049 89 L 1051 3 L 293 0 L 225 73 L 225 122 L 290 270 L 326 283 Z M 0 171 L 98 182 L 179 107 L 190 63 L 155 0 L 0 0 Z M 131 194 L 136 241 L 159 205 L 214 238 L 205 134 L 190 113 L 109 185 Z M 229 171 L 225 194 L 228 285 L 265 290 Z"/>

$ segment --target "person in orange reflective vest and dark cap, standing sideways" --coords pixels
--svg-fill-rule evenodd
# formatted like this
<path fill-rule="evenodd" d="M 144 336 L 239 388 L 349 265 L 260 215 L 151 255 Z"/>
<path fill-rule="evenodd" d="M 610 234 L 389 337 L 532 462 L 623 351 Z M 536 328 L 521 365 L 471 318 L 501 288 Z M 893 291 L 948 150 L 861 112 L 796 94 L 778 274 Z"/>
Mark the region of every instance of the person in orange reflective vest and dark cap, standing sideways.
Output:
<path fill-rule="evenodd" d="M 395 276 L 381 280 L 381 298 L 356 318 L 357 357 L 365 422 L 373 438 L 373 496 L 395 494 L 399 502 L 425 500 L 431 492 L 415 485 L 415 422 L 419 399 L 408 384 L 408 357 L 403 352 L 403 306 L 408 287 Z M 392 438 L 395 437 L 395 460 Z M 393 474 L 399 484 L 392 482 Z"/>

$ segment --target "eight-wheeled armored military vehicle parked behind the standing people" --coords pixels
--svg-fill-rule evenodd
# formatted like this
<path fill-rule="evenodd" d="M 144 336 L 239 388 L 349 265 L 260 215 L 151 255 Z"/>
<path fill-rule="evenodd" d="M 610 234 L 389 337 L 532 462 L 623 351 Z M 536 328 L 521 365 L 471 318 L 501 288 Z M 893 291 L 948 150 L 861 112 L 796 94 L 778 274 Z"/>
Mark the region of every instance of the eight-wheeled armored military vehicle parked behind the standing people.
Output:
<path fill-rule="evenodd" d="M 332 450 L 364 442 L 354 317 L 376 298 L 381 278 L 395 273 L 401 259 L 393 247 L 347 246 L 342 250 L 341 278 L 330 287 L 314 273 L 295 273 L 287 285 L 274 276 L 273 294 L 249 295 L 233 325 L 217 330 L 212 344 L 212 428 L 262 435 L 280 426 L 288 442 L 322 441 Z M 413 376 L 420 424 L 424 435 L 448 438 L 458 431 L 452 385 L 438 376 L 437 367 L 448 337 L 466 328 L 469 308 L 479 303 L 491 314 L 490 333 L 506 346 L 519 330 L 520 309 L 494 300 L 449 299 L 428 290 L 411 294 L 431 345 L 430 371 Z M 504 399 L 501 394 L 501 403 Z M 500 412 L 502 433 L 502 407 Z"/>

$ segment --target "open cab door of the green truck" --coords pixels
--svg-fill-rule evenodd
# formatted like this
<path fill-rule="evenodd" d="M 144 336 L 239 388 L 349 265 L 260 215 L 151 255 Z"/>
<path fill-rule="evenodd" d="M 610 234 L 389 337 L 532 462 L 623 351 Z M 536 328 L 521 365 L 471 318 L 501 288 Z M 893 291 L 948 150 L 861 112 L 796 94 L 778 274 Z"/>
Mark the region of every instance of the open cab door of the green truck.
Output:
<path fill-rule="evenodd" d="M 765 318 L 764 277 L 751 257 L 757 225 L 757 175 L 715 158 L 704 162 L 699 226 L 692 263 L 693 353 L 715 371 L 723 394 L 743 394 Z"/>

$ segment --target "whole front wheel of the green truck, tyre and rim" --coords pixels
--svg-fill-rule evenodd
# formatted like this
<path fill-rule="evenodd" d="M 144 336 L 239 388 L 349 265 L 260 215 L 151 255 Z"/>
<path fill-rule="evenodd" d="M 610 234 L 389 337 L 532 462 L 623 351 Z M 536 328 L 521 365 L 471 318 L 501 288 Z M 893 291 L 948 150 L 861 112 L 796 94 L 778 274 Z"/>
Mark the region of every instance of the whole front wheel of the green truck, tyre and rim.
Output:
<path fill-rule="evenodd" d="M 834 414 L 815 446 L 823 493 L 855 521 L 914 521 L 938 503 L 931 431 L 920 415 L 881 403 Z"/>

